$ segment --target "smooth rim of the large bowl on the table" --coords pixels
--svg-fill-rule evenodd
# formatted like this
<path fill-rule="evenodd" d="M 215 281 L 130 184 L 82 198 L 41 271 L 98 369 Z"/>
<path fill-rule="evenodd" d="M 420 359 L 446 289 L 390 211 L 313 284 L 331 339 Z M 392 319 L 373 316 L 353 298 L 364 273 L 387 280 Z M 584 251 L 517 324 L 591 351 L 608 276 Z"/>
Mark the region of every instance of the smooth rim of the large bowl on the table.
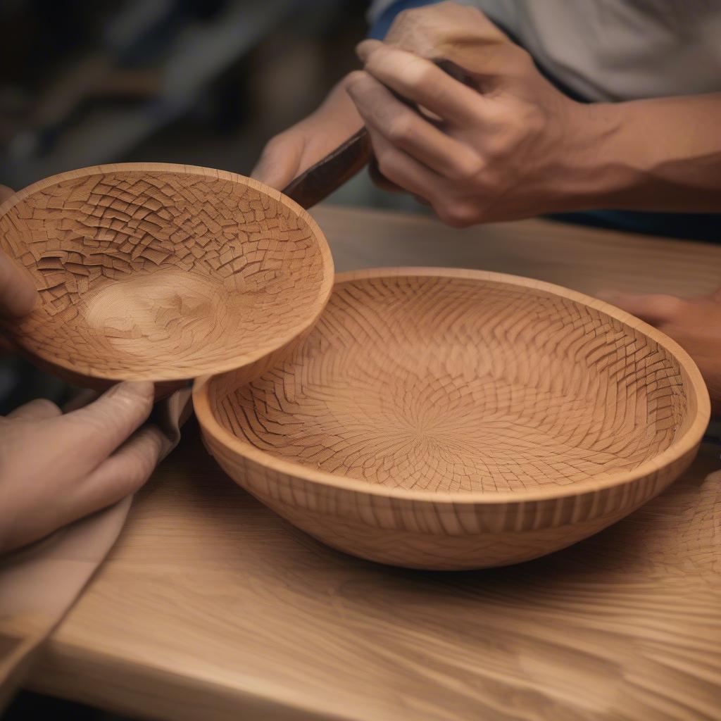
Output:
<path fill-rule="evenodd" d="M 406 276 L 433 276 L 441 278 L 460 278 L 468 280 L 490 280 L 495 283 L 505 283 L 512 286 L 523 286 L 534 288 L 539 291 L 552 293 L 571 301 L 581 303 L 590 308 L 602 311 L 616 320 L 640 330 L 652 340 L 667 350 L 689 378 L 689 384 L 693 389 L 694 398 L 689 399 L 689 405 L 696 403 L 696 417 L 686 428 L 680 438 L 676 439 L 671 446 L 662 451 L 653 459 L 644 461 L 637 468 L 629 471 L 598 474 L 590 479 L 570 483 L 568 485 L 554 485 L 551 487 L 536 487 L 530 490 L 518 491 L 414 491 L 398 487 L 385 487 L 380 484 L 361 479 L 349 478 L 342 474 L 328 473 L 314 470 L 304 466 L 297 461 L 280 459 L 278 456 L 261 451 L 246 441 L 242 441 L 236 435 L 218 423 L 211 411 L 208 398 L 208 387 L 213 377 L 218 373 L 211 373 L 195 379 L 193 384 L 193 406 L 195 415 L 203 433 L 208 433 L 216 443 L 229 448 L 236 454 L 243 456 L 261 466 L 273 471 L 280 472 L 291 478 L 302 479 L 311 485 L 335 490 L 362 493 L 376 497 L 393 498 L 405 501 L 420 501 L 445 504 L 466 504 L 477 503 L 479 505 L 502 505 L 508 503 L 528 503 L 533 501 L 559 500 L 566 497 L 574 497 L 588 492 L 598 492 L 611 487 L 618 487 L 633 483 L 639 479 L 648 477 L 665 466 L 673 463 L 684 455 L 693 451 L 701 443 L 709 419 L 711 417 L 711 402 L 709 393 L 702 378 L 699 368 L 691 359 L 691 356 L 681 348 L 675 340 L 660 332 L 658 329 L 647 324 L 632 314 L 613 306 L 606 301 L 585 295 L 579 291 L 572 291 L 570 288 L 558 286 L 554 283 L 547 283 L 544 280 L 525 278 L 521 275 L 510 275 L 508 273 L 495 273 L 487 270 L 466 270 L 464 268 L 446 268 L 433 266 L 403 266 L 403 267 L 380 267 L 368 268 L 365 270 L 353 270 L 347 273 L 339 273 L 335 276 L 334 288 L 341 283 L 348 283 L 354 280 L 369 280 L 373 278 L 402 278 Z"/>

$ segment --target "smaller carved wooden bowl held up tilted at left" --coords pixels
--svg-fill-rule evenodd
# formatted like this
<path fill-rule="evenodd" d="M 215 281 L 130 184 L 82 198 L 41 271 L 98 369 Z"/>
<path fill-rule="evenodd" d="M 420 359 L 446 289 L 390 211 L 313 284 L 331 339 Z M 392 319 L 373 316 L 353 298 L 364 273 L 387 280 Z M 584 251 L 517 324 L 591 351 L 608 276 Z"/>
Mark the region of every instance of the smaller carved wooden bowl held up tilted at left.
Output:
<path fill-rule="evenodd" d="M 0 249 L 40 301 L 10 326 L 76 384 L 177 385 L 262 358 L 308 329 L 332 289 L 316 222 L 234 173 L 162 163 L 50 177 L 0 205 Z"/>

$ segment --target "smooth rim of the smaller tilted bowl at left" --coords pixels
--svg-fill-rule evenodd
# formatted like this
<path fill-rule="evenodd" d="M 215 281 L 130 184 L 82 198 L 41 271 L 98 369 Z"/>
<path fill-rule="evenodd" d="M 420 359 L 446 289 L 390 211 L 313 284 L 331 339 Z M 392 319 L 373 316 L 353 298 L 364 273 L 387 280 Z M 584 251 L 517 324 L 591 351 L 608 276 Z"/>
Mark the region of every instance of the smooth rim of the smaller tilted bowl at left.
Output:
<path fill-rule="evenodd" d="M 247 177 L 238 173 L 229 172 L 227 170 L 206 168 L 200 165 L 185 165 L 180 163 L 107 163 L 102 165 L 91 165 L 88 167 L 68 170 L 66 172 L 58 173 L 56 175 L 51 175 L 49 177 L 43 178 L 43 180 L 38 180 L 37 182 L 34 182 L 31 185 L 22 188 L 22 190 L 17 190 L 17 192 L 13 193 L 13 195 L 7 198 L 4 203 L 0 203 L 0 217 L 4 216 L 5 213 L 7 213 L 8 211 L 12 210 L 12 208 L 14 208 L 17 203 L 19 203 L 24 198 L 27 198 L 27 196 L 32 195 L 33 193 L 37 193 L 37 191 L 43 190 L 45 187 L 50 187 L 51 185 L 58 185 L 58 183 L 64 182 L 66 180 L 73 180 L 74 178 L 78 177 L 89 177 L 91 175 L 112 172 L 159 171 L 190 175 L 204 175 L 206 177 L 211 177 L 216 180 L 239 182 L 242 185 L 248 185 L 253 190 L 259 190 L 261 193 L 265 193 L 265 195 L 268 195 L 270 198 L 273 198 L 273 200 L 278 201 L 278 203 L 283 203 L 283 205 L 286 205 L 286 207 L 291 208 L 293 212 L 297 213 L 297 215 L 302 218 L 303 221 L 308 225 L 311 233 L 314 234 L 314 237 L 319 247 L 321 264 L 323 269 L 323 278 L 317 295 L 316 303 L 319 303 L 319 306 L 317 306 L 316 312 L 314 314 L 311 314 L 311 317 L 306 319 L 306 321 L 302 325 L 297 325 L 293 327 L 293 329 L 286 333 L 286 335 L 284 335 L 283 338 L 278 342 L 274 342 L 270 345 L 265 345 L 260 348 L 254 348 L 253 350 L 249 350 L 242 356 L 236 356 L 231 360 L 227 361 L 226 363 L 218 363 L 217 366 L 213 367 L 211 374 L 233 371 L 241 366 L 255 363 L 255 361 L 260 360 L 260 358 L 263 358 L 265 355 L 273 353 L 273 351 L 278 350 L 278 348 L 282 348 L 283 345 L 291 342 L 293 338 L 298 337 L 298 335 L 301 335 L 301 333 L 305 332 L 317 322 L 330 299 L 331 293 L 333 291 L 333 283 L 335 280 L 335 267 L 333 264 L 333 257 L 330 252 L 330 247 L 328 245 L 325 234 L 321 230 L 320 226 L 317 224 L 317 221 L 315 221 L 313 216 L 311 216 L 311 214 L 306 211 L 306 209 L 303 208 L 301 205 L 298 205 L 295 200 L 289 198 L 287 195 L 283 195 L 283 193 L 280 193 L 280 191 L 275 190 L 274 187 L 271 187 L 270 185 L 265 185 L 265 183 L 262 183 L 259 180 L 255 180 L 255 178 L 252 177 Z M 158 373 L 151 374 L 118 374 L 104 373 L 102 371 L 97 371 L 96 368 L 86 367 L 81 369 L 79 368 L 77 363 L 72 363 L 71 361 L 66 360 L 66 358 L 58 358 L 56 355 L 52 355 L 50 353 L 37 353 L 37 350 L 35 350 L 35 348 L 30 348 L 25 344 L 25 342 L 23 342 L 24 337 L 22 336 L 17 337 L 16 340 L 18 345 L 20 346 L 20 349 L 30 359 L 40 358 L 41 361 L 43 361 L 44 363 L 48 363 L 50 366 L 54 366 L 56 368 L 63 368 L 63 370 L 65 371 L 70 371 L 71 373 L 75 373 L 78 376 L 85 376 L 91 379 L 101 379 L 104 381 L 150 380 L 154 383 L 162 383 L 164 381 L 185 381 L 193 379 L 194 377 L 194 373 L 192 370 L 188 372 L 177 371 L 174 373 L 163 373 L 159 369 Z M 207 373 L 207 371 L 205 372 Z M 151 377 L 149 377 L 149 375 Z"/>

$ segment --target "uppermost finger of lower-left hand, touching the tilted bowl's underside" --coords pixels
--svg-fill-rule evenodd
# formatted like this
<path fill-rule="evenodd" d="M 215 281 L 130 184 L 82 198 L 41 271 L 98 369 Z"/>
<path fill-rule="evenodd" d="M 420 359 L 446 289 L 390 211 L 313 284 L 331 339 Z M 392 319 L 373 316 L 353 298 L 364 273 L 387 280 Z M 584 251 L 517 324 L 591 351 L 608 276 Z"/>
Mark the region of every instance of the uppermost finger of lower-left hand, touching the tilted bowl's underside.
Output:
<path fill-rule="evenodd" d="M 58 454 L 73 454 L 76 476 L 95 469 L 145 421 L 153 407 L 150 381 L 126 381 L 97 401 L 46 421 L 45 438 Z M 61 455 L 58 455 L 61 457 Z"/>

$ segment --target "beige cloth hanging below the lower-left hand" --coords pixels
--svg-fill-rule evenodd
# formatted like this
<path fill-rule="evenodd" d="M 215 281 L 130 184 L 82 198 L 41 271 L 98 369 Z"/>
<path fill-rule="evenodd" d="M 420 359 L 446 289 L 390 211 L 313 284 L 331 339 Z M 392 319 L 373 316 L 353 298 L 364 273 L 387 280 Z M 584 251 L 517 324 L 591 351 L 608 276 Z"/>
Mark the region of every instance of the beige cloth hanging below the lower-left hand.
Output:
<path fill-rule="evenodd" d="M 190 388 L 184 388 L 154 409 L 152 421 L 171 441 L 171 450 L 191 407 Z M 0 712 L 112 548 L 131 501 L 127 497 L 71 523 L 0 562 Z"/>

